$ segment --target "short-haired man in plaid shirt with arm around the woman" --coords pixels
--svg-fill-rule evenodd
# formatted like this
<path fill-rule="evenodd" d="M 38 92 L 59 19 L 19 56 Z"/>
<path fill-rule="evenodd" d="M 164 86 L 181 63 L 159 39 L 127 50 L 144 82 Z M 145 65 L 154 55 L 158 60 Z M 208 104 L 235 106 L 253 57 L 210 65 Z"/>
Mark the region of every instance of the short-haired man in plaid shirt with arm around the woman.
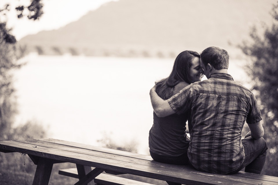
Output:
<path fill-rule="evenodd" d="M 207 80 L 195 82 L 168 100 L 150 91 L 154 112 L 159 117 L 191 113 L 188 157 L 200 171 L 261 173 L 266 159 L 266 142 L 259 106 L 253 93 L 233 81 L 227 73 L 228 52 L 219 47 L 206 48 L 200 65 Z M 242 140 L 242 128 L 250 132 Z"/>

